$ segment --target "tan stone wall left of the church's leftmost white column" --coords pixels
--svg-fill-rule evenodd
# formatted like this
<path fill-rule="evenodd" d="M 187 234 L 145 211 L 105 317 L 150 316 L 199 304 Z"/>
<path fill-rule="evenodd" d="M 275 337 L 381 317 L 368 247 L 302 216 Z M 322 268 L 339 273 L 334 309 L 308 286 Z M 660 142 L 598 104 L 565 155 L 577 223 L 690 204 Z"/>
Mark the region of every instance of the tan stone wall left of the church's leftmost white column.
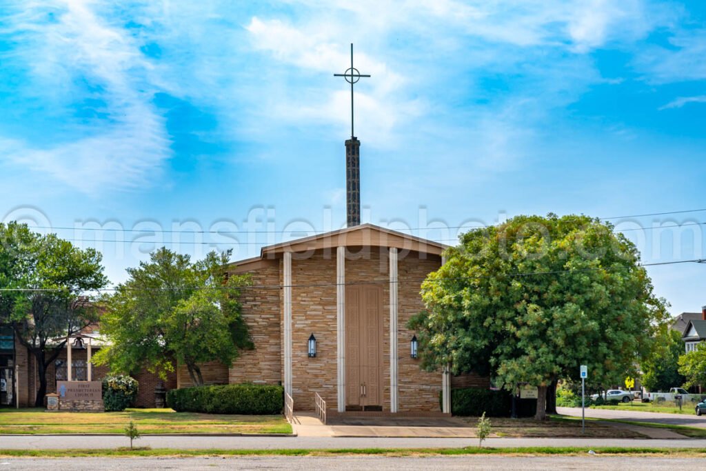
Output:
<path fill-rule="evenodd" d="M 253 286 L 280 285 L 280 261 L 249 272 Z M 241 292 L 243 318 L 254 350 L 242 350 L 229 369 L 228 381 L 235 383 L 280 384 L 282 381 L 282 290 L 249 289 Z"/>

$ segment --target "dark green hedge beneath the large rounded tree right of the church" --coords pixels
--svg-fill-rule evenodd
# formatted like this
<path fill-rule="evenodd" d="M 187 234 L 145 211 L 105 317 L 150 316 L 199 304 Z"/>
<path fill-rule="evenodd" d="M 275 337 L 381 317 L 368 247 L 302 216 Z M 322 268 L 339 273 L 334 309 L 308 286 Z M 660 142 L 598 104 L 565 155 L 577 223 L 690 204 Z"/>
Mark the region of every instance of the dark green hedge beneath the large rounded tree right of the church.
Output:
<path fill-rule="evenodd" d="M 439 407 L 442 402 L 439 393 Z M 534 415 L 537 407 L 536 399 L 517 399 L 518 417 Z M 510 417 L 513 399 L 506 390 L 491 390 L 484 388 L 456 388 L 451 390 L 451 414 L 480 417 L 485 412 L 486 417 Z"/>

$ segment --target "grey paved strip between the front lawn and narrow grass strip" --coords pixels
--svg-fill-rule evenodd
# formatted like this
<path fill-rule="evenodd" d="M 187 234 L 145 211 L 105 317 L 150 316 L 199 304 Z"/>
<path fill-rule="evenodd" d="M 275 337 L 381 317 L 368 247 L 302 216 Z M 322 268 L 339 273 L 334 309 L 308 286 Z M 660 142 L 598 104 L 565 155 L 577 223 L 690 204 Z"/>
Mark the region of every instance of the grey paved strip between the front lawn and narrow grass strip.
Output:
<path fill-rule="evenodd" d="M 129 446 L 124 436 L 1 435 L 0 449 L 95 449 Z M 136 446 L 181 449 L 277 450 L 335 448 L 461 448 L 477 446 L 476 439 L 421 439 L 381 437 L 269 437 L 269 436 L 143 436 Z M 706 439 L 487 439 L 484 446 L 621 446 L 706 448 Z"/>

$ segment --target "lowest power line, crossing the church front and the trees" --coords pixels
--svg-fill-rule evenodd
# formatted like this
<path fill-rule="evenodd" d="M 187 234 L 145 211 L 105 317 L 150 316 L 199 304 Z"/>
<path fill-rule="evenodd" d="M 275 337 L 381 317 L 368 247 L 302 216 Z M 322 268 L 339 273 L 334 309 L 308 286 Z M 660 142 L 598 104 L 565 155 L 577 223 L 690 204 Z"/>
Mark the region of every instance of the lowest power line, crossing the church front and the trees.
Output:
<path fill-rule="evenodd" d="M 667 262 L 653 262 L 653 263 L 638 263 L 638 267 L 647 266 L 663 266 L 663 265 L 674 265 L 677 263 L 702 263 L 706 260 L 702 258 L 693 258 L 691 260 L 675 260 Z M 477 275 L 477 276 L 460 276 L 460 277 L 448 277 L 448 278 L 434 278 L 429 280 L 432 282 L 441 281 L 455 281 L 455 280 L 484 280 L 488 278 L 494 278 L 495 276 L 505 276 L 509 278 L 521 278 L 527 276 L 538 276 L 538 275 L 563 275 L 567 273 L 582 273 L 591 272 L 598 270 L 611 270 L 611 267 L 592 267 L 592 268 L 570 268 L 568 270 L 549 270 L 549 271 L 534 271 L 525 273 L 500 273 L 498 275 Z M 405 280 L 405 282 L 424 282 L 427 278 L 413 278 L 411 280 Z M 292 288 L 305 288 L 305 287 L 333 287 L 333 286 L 358 286 L 358 285 L 388 285 L 390 280 L 371 280 L 371 281 L 360 281 L 360 282 L 345 282 L 345 283 L 307 283 L 301 285 L 246 285 L 238 287 L 227 287 L 227 286 L 211 286 L 211 287 L 156 287 L 156 288 L 129 288 L 129 287 L 112 287 L 112 288 L 96 288 L 94 290 L 85 290 L 85 292 L 114 292 L 119 290 L 126 291 L 199 291 L 199 290 L 281 290 L 285 287 Z M 400 284 L 400 281 L 397 281 Z M 0 292 L 64 292 L 67 291 L 63 288 L 0 288 Z"/>

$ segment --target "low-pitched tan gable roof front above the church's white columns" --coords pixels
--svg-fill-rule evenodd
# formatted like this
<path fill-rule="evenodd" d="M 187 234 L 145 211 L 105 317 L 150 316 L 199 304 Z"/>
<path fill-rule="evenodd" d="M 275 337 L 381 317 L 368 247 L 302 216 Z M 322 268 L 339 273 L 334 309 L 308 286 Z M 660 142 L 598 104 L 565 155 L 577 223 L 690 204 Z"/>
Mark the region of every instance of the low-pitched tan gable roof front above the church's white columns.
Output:
<path fill-rule="evenodd" d="M 401 250 L 420 252 L 441 256 L 448 245 L 440 244 L 429 239 L 422 239 L 403 232 L 385 229 L 384 227 L 361 224 L 346 227 L 310 237 L 302 237 L 288 242 L 280 242 L 265 246 L 260 251 L 260 256 L 247 260 L 234 262 L 233 265 L 244 266 L 264 260 L 275 260 L 285 252 L 305 252 L 320 249 L 335 249 L 336 247 L 395 247 Z"/>

